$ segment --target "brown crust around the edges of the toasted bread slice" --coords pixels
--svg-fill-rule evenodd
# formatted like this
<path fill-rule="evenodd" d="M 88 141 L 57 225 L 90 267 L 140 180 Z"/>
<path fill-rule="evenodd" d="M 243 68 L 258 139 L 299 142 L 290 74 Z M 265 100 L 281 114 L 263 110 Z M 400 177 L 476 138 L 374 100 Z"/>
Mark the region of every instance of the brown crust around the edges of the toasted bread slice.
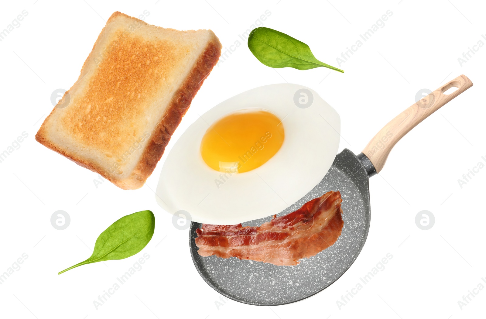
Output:
<path fill-rule="evenodd" d="M 122 14 L 121 12 L 115 12 L 108 19 L 106 25 L 108 25 L 108 22 L 110 20 L 116 18 L 117 16 L 132 18 L 130 16 Z M 147 24 L 142 20 L 137 20 L 140 23 Z M 104 28 L 106 28 L 106 26 Z M 85 63 L 83 64 L 83 68 L 81 69 L 81 74 L 78 77 L 78 81 L 84 77 L 86 73 L 87 63 L 88 61 L 91 61 L 92 55 L 95 54 L 96 44 L 100 41 L 103 35 L 104 32 L 102 30 L 93 46 L 93 49 L 91 50 Z M 127 178 L 116 178 L 114 174 L 108 172 L 106 169 L 102 168 L 96 163 L 87 159 L 77 157 L 73 154 L 68 154 L 64 149 L 60 148 L 58 145 L 50 141 L 46 134 L 45 124 L 49 117 L 52 115 L 52 113 L 55 111 L 55 107 L 39 128 L 37 134 L 35 135 L 35 140 L 43 144 L 44 146 L 52 149 L 53 151 L 63 155 L 64 157 L 74 161 L 76 164 L 100 174 L 102 177 L 108 179 L 122 189 L 138 189 L 143 186 L 147 177 L 149 177 L 154 171 L 157 162 L 162 157 L 165 147 L 171 139 L 172 134 L 174 134 L 174 131 L 180 124 L 182 117 L 186 114 L 189 106 L 191 105 L 192 98 L 201 88 L 204 79 L 208 76 L 209 72 L 216 65 L 221 54 L 221 48 L 222 45 L 219 42 L 219 39 L 215 35 L 213 35 L 213 37 L 208 41 L 203 53 L 199 55 L 198 60 L 194 64 L 188 76 L 183 81 L 183 84 L 175 91 L 176 93 L 174 93 L 171 102 L 166 107 L 166 111 L 162 117 L 162 120 L 160 120 L 160 122 L 156 125 L 154 131 L 151 132 L 151 136 L 149 137 L 148 142 L 145 143 L 146 145 L 143 149 L 139 162 L 137 163 L 135 169 L 131 172 L 130 176 Z M 62 103 L 62 101 L 68 94 L 69 90 L 64 93 L 63 98 L 58 103 Z"/>

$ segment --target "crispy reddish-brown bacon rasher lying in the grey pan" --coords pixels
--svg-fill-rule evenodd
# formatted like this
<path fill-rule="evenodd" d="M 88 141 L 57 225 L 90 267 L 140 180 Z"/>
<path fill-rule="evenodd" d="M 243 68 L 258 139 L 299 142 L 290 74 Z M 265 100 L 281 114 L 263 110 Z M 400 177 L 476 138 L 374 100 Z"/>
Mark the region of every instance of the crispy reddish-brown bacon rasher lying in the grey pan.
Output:
<path fill-rule="evenodd" d="M 343 229 L 341 193 L 327 192 L 293 213 L 261 226 L 203 224 L 196 230 L 201 256 L 238 257 L 295 266 L 336 242 Z"/>

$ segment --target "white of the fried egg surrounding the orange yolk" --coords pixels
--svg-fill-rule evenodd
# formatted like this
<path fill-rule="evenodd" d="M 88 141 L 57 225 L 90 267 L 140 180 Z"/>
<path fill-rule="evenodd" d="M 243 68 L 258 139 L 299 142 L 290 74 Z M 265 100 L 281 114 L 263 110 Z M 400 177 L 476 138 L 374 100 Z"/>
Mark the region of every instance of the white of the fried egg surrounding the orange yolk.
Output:
<path fill-rule="evenodd" d="M 298 89 L 312 92 L 311 106 L 296 106 Z M 225 177 L 202 159 L 201 140 L 209 125 L 248 108 L 277 115 L 285 139 L 260 167 Z M 248 90 L 211 108 L 182 134 L 162 167 L 157 203 L 169 213 L 185 211 L 192 221 L 206 224 L 232 225 L 280 213 L 326 175 L 338 150 L 339 132 L 339 115 L 312 89 L 274 84 Z"/>

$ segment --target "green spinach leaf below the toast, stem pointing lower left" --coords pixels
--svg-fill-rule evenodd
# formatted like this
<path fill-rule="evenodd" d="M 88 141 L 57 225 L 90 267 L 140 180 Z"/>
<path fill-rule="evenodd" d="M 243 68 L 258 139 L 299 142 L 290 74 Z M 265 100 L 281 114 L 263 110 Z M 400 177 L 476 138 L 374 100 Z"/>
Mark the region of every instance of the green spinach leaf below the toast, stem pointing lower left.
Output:
<path fill-rule="evenodd" d="M 91 257 L 59 274 L 81 265 L 133 256 L 147 246 L 154 230 L 155 216 L 151 211 L 123 216 L 101 233 Z"/>

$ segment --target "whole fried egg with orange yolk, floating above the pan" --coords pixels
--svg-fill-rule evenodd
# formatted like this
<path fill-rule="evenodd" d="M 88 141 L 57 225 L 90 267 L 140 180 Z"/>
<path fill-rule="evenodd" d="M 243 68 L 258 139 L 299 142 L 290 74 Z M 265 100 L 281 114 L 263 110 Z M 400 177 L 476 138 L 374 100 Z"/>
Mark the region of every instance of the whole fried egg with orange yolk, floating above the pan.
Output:
<path fill-rule="evenodd" d="M 202 114 L 174 144 L 156 190 L 167 212 L 232 225 L 280 213 L 326 175 L 337 112 L 312 89 L 275 84 Z"/>

